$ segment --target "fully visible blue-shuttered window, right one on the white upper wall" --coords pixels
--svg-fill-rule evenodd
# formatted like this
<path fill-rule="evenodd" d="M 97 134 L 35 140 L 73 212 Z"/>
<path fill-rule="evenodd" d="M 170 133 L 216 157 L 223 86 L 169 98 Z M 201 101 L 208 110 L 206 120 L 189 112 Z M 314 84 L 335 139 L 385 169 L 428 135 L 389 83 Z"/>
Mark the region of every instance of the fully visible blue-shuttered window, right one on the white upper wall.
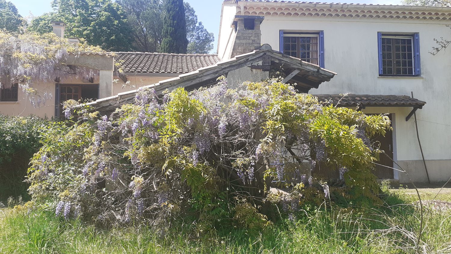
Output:
<path fill-rule="evenodd" d="M 419 34 L 377 33 L 380 76 L 419 76 Z"/>

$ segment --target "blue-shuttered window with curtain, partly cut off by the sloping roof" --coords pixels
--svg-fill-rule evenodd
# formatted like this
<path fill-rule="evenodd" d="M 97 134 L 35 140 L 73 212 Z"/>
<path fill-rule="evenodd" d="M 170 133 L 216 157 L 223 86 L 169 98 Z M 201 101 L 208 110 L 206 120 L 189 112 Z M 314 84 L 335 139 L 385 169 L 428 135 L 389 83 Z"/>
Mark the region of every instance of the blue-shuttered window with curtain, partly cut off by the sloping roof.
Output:
<path fill-rule="evenodd" d="M 324 32 L 279 32 L 280 51 L 285 55 L 324 68 Z"/>

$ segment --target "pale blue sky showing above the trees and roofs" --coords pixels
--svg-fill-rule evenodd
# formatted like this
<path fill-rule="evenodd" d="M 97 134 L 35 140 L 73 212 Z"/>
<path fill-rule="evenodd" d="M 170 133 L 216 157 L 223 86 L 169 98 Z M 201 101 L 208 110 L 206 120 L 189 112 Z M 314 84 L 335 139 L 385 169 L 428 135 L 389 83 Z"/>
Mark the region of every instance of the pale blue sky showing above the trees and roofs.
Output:
<path fill-rule="evenodd" d="M 34 16 L 39 16 L 45 12 L 51 11 L 51 0 L 9 0 L 16 5 L 19 13 L 26 17 L 30 12 Z M 185 0 L 193 6 L 198 20 L 203 23 L 209 32 L 215 34 L 214 50 L 216 52 L 217 37 L 219 33 L 219 21 L 221 19 L 221 5 L 223 0 Z M 400 0 L 355 0 L 354 3 L 360 4 L 380 4 L 380 5 L 399 5 Z"/>

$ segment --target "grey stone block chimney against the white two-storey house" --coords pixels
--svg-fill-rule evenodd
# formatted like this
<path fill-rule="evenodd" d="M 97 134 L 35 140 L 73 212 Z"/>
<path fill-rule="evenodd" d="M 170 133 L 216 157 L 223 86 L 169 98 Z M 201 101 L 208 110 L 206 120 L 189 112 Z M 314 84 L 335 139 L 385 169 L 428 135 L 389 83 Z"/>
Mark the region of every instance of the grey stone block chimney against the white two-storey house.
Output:
<path fill-rule="evenodd" d="M 264 16 L 235 15 L 232 27 L 236 36 L 230 57 L 252 52 L 260 48 L 262 44 L 262 32 L 260 24 Z"/>

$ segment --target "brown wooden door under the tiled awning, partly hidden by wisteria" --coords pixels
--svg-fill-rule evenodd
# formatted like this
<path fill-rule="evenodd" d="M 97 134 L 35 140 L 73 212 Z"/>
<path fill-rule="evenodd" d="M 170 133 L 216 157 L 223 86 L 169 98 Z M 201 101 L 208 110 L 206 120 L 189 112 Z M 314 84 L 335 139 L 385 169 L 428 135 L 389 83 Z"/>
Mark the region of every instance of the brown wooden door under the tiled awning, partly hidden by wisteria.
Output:
<path fill-rule="evenodd" d="M 391 121 L 391 114 L 388 115 L 388 117 Z M 393 132 L 389 130 L 385 136 L 379 135 L 373 137 L 372 143 L 388 155 L 387 157 L 384 153 L 380 154 L 379 161 L 376 163 L 383 166 L 376 164 L 374 175 L 376 175 L 378 179 L 393 179 L 393 161 L 391 160 L 393 159 Z"/>

